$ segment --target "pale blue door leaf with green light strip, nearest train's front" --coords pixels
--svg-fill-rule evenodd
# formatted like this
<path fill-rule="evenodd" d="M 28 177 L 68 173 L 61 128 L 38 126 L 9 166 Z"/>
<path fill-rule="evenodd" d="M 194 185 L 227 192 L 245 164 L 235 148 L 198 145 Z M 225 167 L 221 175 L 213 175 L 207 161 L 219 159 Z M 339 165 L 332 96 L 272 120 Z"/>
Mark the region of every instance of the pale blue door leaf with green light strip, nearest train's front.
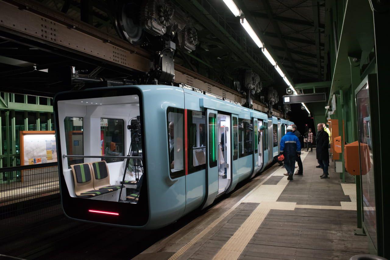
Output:
<path fill-rule="evenodd" d="M 206 166 L 206 202 L 202 208 L 213 203 L 218 195 L 218 141 L 217 141 L 217 111 L 206 111 L 207 135 L 207 166 Z"/>

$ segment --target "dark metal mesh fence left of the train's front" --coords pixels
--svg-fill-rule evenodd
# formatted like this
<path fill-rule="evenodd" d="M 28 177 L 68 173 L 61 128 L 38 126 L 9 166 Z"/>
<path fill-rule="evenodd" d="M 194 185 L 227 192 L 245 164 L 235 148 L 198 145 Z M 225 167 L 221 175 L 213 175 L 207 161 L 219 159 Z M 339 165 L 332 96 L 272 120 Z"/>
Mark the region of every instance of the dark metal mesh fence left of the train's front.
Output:
<path fill-rule="evenodd" d="M 62 214 L 57 163 L 1 168 L 0 183 L 1 226 L 20 226 Z"/>

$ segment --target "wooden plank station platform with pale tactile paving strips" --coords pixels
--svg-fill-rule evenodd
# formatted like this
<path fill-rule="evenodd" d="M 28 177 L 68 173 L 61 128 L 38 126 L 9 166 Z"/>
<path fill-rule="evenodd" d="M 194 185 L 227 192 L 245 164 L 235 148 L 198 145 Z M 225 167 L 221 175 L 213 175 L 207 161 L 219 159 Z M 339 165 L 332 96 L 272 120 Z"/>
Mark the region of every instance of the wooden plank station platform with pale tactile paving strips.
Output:
<path fill-rule="evenodd" d="M 356 229 L 356 186 L 330 163 L 320 179 L 315 149 L 303 176 L 273 166 L 134 259 L 349 259 L 368 253 Z M 298 168 L 297 168 L 298 169 Z M 297 170 L 296 169 L 296 170 Z"/>

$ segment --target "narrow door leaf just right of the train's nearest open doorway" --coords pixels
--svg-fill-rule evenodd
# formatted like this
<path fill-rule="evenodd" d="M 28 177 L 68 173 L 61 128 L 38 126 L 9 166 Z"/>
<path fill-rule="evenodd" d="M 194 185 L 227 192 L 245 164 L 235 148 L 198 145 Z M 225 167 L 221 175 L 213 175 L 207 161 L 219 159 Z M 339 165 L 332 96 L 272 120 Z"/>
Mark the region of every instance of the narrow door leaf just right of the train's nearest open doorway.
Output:
<path fill-rule="evenodd" d="M 236 187 L 237 183 L 238 183 L 238 171 L 239 171 L 239 164 L 238 164 L 238 116 L 237 115 L 234 115 L 232 114 L 231 116 L 231 124 L 230 124 L 230 128 L 232 129 L 230 131 L 230 139 L 232 140 L 231 144 L 232 144 L 232 148 L 230 149 L 230 156 L 231 156 L 231 165 L 230 165 L 230 168 L 232 169 L 231 170 L 231 184 L 230 186 L 227 188 L 226 192 L 229 193 L 230 191 L 234 190 L 234 188 Z"/>

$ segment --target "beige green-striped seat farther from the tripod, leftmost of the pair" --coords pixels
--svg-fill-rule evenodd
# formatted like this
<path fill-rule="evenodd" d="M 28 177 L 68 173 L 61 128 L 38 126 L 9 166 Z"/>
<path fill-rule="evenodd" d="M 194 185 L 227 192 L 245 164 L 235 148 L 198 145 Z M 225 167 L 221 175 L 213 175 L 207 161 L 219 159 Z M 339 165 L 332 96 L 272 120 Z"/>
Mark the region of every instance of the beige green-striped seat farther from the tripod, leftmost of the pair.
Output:
<path fill-rule="evenodd" d="M 74 179 L 74 192 L 79 198 L 92 198 L 97 195 L 105 194 L 110 190 L 94 189 L 92 179 L 92 169 L 89 163 L 80 163 L 71 165 Z"/>

